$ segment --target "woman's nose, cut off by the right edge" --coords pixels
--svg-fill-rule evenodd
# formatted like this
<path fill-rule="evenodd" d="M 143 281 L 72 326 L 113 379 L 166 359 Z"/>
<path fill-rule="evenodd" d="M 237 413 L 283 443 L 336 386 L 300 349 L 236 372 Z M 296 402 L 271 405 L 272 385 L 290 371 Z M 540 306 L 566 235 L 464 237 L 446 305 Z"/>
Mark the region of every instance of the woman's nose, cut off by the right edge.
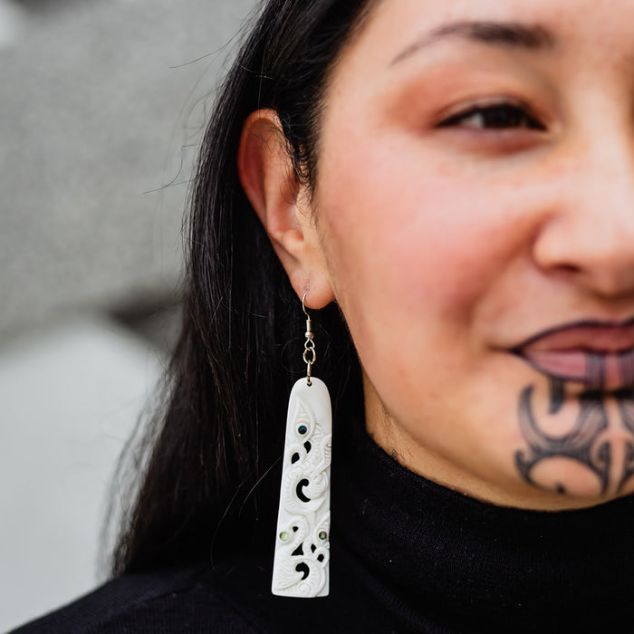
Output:
<path fill-rule="evenodd" d="M 611 144 L 605 138 L 594 143 L 598 151 L 551 169 L 558 176 L 533 259 L 589 293 L 634 296 L 634 140 L 624 141 L 621 130 Z"/>

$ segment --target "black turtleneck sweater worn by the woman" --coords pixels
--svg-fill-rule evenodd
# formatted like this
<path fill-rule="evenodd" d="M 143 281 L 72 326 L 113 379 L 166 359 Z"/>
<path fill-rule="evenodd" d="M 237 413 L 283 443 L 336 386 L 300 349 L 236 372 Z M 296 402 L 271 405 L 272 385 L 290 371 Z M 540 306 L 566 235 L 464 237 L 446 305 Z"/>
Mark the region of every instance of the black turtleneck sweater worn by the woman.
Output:
<path fill-rule="evenodd" d="M 634 632 L 634 497 L 501 508 L 412 474 L 360 428 L 335 442 L 329 597 L 272 596 L 272 544 L 123 576 L 15 631 Z"/>

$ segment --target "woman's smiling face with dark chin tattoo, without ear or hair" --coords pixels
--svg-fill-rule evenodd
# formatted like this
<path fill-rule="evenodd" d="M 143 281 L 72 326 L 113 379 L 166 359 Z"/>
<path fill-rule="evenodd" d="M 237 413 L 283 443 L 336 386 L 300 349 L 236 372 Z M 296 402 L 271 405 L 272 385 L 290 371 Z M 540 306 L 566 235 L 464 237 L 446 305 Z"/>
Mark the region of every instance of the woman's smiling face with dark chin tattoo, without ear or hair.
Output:
<path fill-rule="evenodd" d="M 325 95 L 312 213 L 370 434 L 498 504 L 634 491 L 632 24 L 383 0 Z"/>

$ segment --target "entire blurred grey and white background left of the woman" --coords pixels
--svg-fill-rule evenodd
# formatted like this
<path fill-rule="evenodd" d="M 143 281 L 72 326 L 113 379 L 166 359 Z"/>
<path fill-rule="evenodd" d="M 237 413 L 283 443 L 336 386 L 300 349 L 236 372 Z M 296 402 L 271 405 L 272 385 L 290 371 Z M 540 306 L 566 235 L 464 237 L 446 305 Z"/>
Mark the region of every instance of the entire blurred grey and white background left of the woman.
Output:
<path fill-rule="evenodd" d="M 0 0 L 0 631 L 91 590 L 178 328 L 190 166 L 255 0 Z"/>

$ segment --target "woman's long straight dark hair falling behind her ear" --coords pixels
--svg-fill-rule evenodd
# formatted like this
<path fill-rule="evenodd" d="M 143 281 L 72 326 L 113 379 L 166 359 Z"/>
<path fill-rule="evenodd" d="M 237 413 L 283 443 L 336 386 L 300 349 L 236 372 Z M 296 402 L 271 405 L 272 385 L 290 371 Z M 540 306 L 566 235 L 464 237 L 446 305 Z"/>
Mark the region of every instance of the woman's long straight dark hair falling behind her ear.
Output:
<path fill-rule="evenodd" d="M 305 372 L 304 322 L 240 186 L 237 148 L 246 117 L 272 108 L 298 178 L 314 184 L 322 94 L 371 4 L 270 0 L 221 87 L 191 189 L 182 331 L 165 406 L 131 454 L 140 485 L 115 574 L 218 561 L 273 539 L 287 396 Z M 336 306 L 313 324 L 315 374 L 345 433 L 362 408 L 359 361 Z"/>

